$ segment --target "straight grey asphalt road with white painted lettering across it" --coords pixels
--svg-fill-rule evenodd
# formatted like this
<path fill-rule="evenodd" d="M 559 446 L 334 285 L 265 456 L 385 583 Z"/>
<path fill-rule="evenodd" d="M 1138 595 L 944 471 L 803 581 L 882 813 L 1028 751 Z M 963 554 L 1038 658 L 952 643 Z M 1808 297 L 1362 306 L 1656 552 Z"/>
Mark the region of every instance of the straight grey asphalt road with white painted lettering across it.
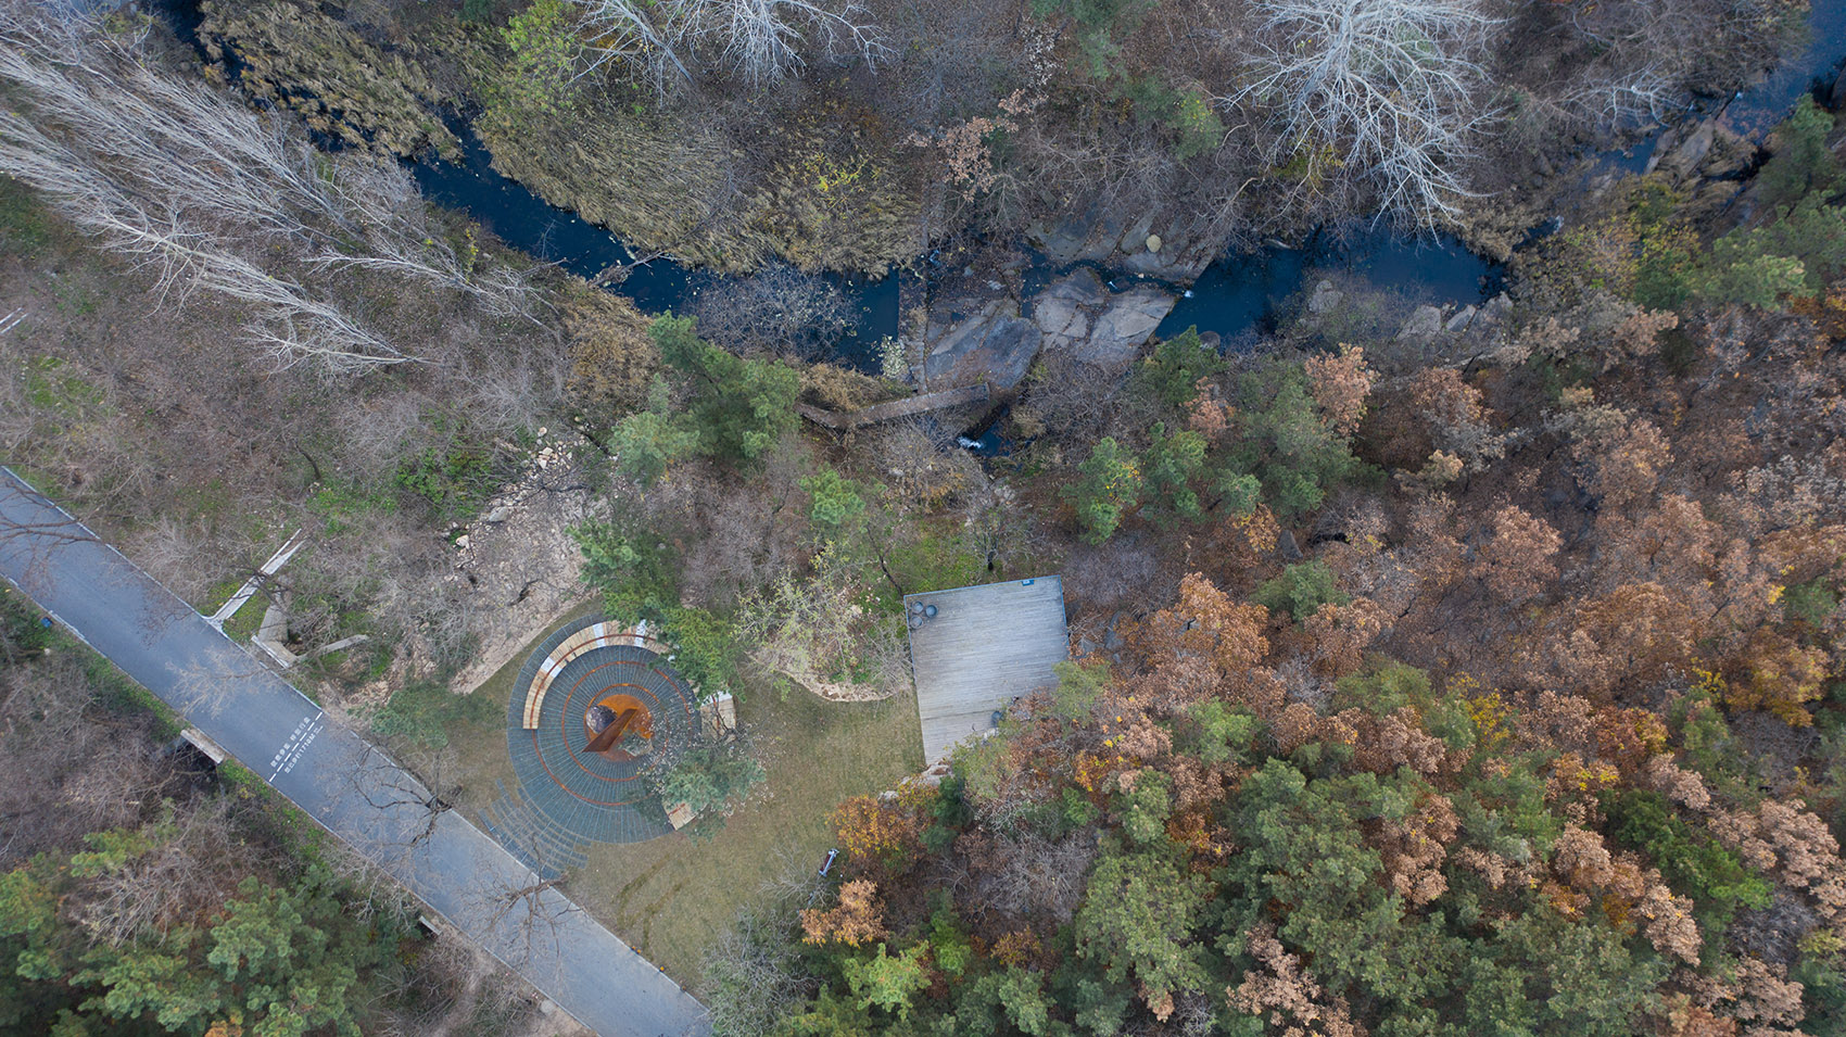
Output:
<path fill-rule="evenodd" d="M 604 1037 L 698 1035 L 705 1009 L 648 960 L 0 469 L 0 576 L 428 908 Z"/>

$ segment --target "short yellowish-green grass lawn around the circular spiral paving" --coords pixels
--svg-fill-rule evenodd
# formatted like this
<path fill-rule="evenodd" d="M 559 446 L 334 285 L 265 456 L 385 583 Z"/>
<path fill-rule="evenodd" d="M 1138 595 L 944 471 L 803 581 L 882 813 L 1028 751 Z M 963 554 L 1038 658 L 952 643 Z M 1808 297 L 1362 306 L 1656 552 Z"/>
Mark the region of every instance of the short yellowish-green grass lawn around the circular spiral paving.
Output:
<path fill-rule="evenodd" d="M 474 694 L 504 707 L 526 655 L 563 622 L 598 611 L 591 600 L 552 622 Z M 768 781 L 709 838 L 663 836 L 646 843 L 593 845 L 589 867 L 565 893 L 644 958 L 698 993 L 705 947 L 757 889 L 790 862 L 820 867 L 833 845 L 827 816 L 842 799 L 879 793 L 923 769 L 916 692 L 879 703 L 831 703 L 801 688 L 786 701 L 761 683 L 737 707 Z M 465 788 L 462 810 L 474 823 L 511 782 L 506 714 L 449 725 Z"/>

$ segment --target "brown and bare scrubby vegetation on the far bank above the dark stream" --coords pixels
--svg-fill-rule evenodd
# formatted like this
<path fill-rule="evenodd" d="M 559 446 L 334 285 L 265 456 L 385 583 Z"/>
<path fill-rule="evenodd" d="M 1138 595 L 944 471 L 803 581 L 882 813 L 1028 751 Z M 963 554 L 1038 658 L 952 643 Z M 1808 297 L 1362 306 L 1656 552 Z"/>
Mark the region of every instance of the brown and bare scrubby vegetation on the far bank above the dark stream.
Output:
<path fill-rule="evenodd" d="M 1492 192 L 1748 81 L 1805 6 L 203 11 L 225 76 L 347 140 L 452 151 L 434 113 L 462 113 L 497 168 L 639 251 L 882 273 L 1084 212 L 1146 216 L 1174 245 L 1373 212 L 1469 232 Z"/>

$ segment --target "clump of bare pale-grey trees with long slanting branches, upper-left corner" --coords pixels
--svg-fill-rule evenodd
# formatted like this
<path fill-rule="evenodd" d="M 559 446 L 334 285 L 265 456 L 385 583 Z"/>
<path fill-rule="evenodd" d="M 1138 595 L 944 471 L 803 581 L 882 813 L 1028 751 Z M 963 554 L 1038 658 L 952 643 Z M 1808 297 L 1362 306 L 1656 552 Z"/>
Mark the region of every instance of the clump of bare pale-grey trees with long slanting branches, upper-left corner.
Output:
<path fill-rule="evenodd" d="M 517 271 L 476 277 L 425 227 L 402 170 L 323 155 L 292 125 L 162 72 L 138 41 L 79 18 L 4 4 L 0 41 L 0 81 L 18 105 L 0 113 L 0 173 L 151 268 L 157 303 L 199 288 L 236 299 L 255 312 L 249 338 L 279 364 L 336 371 L 414 358 L 310 280 L 384 273 L 456 288 L 489 312 L 524 310 Z"/>

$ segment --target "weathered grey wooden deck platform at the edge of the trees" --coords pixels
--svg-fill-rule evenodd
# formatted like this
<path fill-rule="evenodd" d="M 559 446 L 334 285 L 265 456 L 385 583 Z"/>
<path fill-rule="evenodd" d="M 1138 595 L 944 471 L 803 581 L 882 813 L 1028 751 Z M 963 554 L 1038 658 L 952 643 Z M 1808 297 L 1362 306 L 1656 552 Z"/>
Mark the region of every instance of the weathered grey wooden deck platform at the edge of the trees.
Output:
<path fill-rule="evenodd" d="M 921 609 L 934 605 L 936 616 Z M 905 598 L 910 666 L 917 681 L 923 758 L 993 727 L 993 710 L 1058 681 L 1052 666 L 1071 653 L 1063 626 L 1063 579 L 1039 576 Z"/>

